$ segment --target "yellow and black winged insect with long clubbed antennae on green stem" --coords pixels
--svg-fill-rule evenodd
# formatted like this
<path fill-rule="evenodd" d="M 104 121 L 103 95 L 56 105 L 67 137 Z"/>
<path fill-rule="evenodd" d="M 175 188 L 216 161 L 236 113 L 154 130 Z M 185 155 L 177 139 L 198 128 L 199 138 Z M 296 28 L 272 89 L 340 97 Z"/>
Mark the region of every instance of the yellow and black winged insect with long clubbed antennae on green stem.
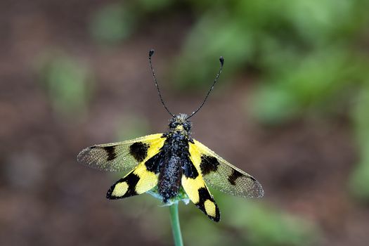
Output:
<path fill-rule="evenodd" d="M 78 162 L 107 171 L 129 171 L 108 190 L 108 199 L 128 198 L 155 190 L 164 203 L 170 203 L 180 193 L 213 221 L 220 220 L 219 208 L 207 186 L 244 198 L 261 198 L 264 190 L 250 174 L 234 167 L 190 135 L 190 118 L 204 105 L 219 79 L 221 67 L 200 107 L 190 115 L 173 115 L 165 105 L 157 84 L 149 51 L 149 64 L 162 105 L 171 115 L 169 129 L 119 143 L 93 145 L 82 150 Z"/>

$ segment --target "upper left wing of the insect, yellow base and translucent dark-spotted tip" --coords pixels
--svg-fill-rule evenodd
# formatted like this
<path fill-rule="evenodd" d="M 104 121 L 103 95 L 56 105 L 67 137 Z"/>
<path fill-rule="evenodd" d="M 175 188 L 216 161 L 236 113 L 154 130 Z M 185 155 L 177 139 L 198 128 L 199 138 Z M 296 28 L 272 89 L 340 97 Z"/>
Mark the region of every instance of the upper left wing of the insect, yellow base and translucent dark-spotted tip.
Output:
<path fill-rule="evenodd" d="M 164 141 L 163 134 L 152 134 L 119 143 L 93 145 L 82 150 L 77 161 L 106 171 L 131 171 L 158 153 Z"/>

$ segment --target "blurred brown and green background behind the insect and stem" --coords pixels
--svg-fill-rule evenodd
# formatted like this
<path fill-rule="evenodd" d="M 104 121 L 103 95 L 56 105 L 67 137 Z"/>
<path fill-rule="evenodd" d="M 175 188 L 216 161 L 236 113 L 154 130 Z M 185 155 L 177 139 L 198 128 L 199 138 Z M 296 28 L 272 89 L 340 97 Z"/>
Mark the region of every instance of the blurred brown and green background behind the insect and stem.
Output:
<path fill-rule="evenodd" d="M 0 245 L 172 245 L 150 195 L 82 148 L 166 131 L 148 68 L 193 137 L 264 186 L 180 205 L 185 245 L 367 245 L 369 1 L 2 1 Z"/>

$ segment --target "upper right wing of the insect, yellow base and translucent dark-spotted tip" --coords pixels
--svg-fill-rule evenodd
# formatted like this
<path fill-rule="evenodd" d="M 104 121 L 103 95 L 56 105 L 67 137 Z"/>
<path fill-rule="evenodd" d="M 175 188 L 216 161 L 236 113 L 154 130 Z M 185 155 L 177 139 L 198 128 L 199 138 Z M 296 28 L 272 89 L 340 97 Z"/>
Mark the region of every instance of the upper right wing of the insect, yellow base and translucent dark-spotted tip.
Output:
<path fill-rule="evenodd" d="M 243 198 L 261 198 L 264 190 L 250 174 L 224 160 L 199 141 L 189 146 L 190 157 L 207 185 Z"/>

